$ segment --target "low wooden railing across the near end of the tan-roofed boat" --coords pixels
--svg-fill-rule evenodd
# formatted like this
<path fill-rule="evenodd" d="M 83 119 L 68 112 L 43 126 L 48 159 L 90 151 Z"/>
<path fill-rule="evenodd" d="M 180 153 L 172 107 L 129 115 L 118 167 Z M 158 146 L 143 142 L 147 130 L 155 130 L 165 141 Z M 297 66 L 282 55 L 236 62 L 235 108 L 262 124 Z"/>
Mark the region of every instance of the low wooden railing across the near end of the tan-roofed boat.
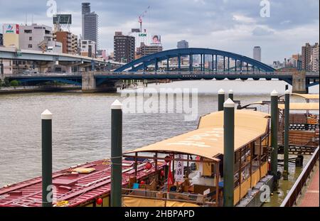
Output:
<path fill-rule="evenodd" d="M 122 188 L 122 197 L 137 198 L 146 200 L 160 200 L 164 201 L 166 205 L 167 201 L 179 202 L 179 203 L 191 203 L 200 206 L 218 206 L 218 203 L 213 199 L 215 193 L 209 193 L 207 195 L 191 194 L 191 193 L 176 193 L 176 192 L 163 192 L 144 189 L 127 189 Z"/>

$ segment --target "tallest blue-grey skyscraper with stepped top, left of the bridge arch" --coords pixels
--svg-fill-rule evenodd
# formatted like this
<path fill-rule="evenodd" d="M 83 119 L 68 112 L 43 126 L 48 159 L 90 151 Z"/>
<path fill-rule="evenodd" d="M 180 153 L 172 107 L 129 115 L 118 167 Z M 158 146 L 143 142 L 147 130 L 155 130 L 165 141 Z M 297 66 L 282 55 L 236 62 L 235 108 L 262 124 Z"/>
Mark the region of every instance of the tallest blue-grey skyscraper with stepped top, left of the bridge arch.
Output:
<path fill-rule="evenodd" d="M 82 39 L 95 41 L 99 45 L 99 16 L 91 12 L 90 3 L 82 3 Z"/>

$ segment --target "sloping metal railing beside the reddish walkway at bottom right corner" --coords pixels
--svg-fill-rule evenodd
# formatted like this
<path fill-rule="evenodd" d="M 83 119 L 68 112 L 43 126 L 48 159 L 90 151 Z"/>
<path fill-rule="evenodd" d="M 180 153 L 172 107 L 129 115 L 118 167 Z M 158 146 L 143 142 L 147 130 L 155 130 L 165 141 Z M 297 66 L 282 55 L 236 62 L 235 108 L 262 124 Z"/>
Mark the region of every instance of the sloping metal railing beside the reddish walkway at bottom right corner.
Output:
<path fill-rule="evenodd" d="M 308 178 L 310 178 L 311 171 L 314 170 L 314 166 L 316 165 L 316 161 L 319 160 L 319 146 L 314 151 L 314 154 L 312 155 L 309 162 L 304 167 L 304 170 L 300 174 L 300 176 L 297 178 L 296 183 L 292 186 L 291 190 L 287 194 L 287 197 L 284 198 L 282 204 L 280 207 L 292 207 L 293 205 L 297 204 L 297 198 L 299 194 L 302 194 L 302 188 L 306 185 L 306 181 Z"/>

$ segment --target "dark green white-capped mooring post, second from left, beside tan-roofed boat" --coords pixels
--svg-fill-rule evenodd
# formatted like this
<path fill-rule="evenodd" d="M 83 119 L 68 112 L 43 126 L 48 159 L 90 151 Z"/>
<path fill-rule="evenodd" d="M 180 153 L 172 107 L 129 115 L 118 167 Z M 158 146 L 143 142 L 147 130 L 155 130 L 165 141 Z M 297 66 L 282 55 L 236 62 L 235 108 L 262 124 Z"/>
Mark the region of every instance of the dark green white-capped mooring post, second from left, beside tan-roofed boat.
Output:
<path fill-rule="evenodd" d="M 122 206 L 122 104 L 111 105 L 111 199 L 112 207 Z"/>

